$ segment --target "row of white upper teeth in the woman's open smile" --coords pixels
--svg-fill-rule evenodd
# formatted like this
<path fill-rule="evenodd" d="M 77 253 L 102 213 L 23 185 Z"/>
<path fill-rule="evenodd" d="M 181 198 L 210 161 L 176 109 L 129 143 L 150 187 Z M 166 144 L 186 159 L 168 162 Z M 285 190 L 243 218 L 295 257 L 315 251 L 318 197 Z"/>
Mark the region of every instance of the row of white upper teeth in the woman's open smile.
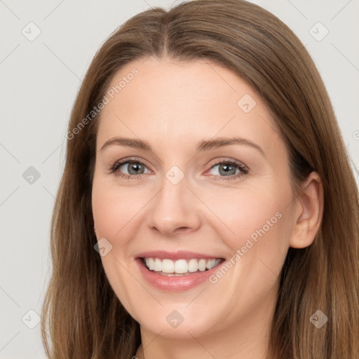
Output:
<path fill-rule="evenodd" d="M 221 259 L 159 259 L 159 258 L 146 258 L 145 263 L 150 271 L 162 273 L 194 273 L 196 271 L 205 271 L 212 269 L 221 262 Z"/>

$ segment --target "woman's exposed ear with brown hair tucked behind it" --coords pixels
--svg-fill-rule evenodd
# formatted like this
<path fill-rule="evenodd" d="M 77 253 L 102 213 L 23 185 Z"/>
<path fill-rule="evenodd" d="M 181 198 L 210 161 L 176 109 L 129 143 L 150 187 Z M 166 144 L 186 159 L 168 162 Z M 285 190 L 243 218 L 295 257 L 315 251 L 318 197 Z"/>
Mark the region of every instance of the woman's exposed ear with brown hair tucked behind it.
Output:
<path fill-rule="evenodd" d="M 295 201 L 290 247 L 305 248 L 316 238 L 323 217 L 323 183 L 317 172 L 311 172 Z"/>

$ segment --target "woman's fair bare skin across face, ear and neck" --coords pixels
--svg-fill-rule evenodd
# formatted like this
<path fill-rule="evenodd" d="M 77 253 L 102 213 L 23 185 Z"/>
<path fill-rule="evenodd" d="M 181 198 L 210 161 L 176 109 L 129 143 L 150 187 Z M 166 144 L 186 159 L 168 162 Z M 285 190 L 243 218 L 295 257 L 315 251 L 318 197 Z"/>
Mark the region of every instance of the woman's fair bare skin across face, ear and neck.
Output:
<path fill-rule="evenodd" d="M 133 67 L 139 74 L 101 113 L 92 201 L 97 239 L 112 245 L 102 257 L 104 270 L 140 323 L 137 357 L 269 358 L 278 276 L 288 248 L 304 248 L 315 238 L 323 213 L 320 177 L 313 172 L 294 197 L 287 149 L 268 109 L 229 69 L 204 60 L 149 57 L 121 69 L 109 87 Z M 256 101 L 248 113 L 237 104 L 245 94 Z M 116 144 L 101 149 L 118 136 L 146 140 L 152 151 Z M 201 140 L 234 136 L 254 142 L 263 154 L 245 144 L 196 153 Z M 140 177 L 110 172 L 131 156 L 146 166 Z M 226 180 L 215 164 L 231 159 L 244 163 L 248 174 Z M 165 177 L 173 165 L 184 173 L 178 184 Z M 128 165 L 121 171 L 128 174 Z M 215 284 L 205 280 L 182 292 L 159 290 L 135 263 L 147 250 L 228 260 L 277 212 L 282 217 L 276 224 Z M 175 328 L 166 320 L 173 310 L 184 318 Z"/>

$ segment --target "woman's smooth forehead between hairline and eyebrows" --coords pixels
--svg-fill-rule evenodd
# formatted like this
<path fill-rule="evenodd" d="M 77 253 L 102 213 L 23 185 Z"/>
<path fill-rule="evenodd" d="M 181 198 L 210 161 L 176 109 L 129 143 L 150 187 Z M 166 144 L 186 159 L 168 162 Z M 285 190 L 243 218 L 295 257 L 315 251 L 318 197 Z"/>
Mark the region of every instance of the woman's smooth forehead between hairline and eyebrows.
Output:
<path fill-rule="evenodd" d="M 208 60 L 130 62 L 114 76 L 106 96 L 98 146 L 116 135 L 146 138 L 166 148 L 229 135 L 280 141 L 269 110 L 251 86 Z"/>

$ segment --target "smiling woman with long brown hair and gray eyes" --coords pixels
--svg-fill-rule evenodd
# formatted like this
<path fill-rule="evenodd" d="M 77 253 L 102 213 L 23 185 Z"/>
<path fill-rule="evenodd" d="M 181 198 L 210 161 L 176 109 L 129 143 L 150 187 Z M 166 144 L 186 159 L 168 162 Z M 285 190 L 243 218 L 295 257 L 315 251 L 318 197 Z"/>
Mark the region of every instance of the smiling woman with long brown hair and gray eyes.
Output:
<path fill-rule="evenodd" d="M 49 358 L 358 358 L 358 190 L 278 18 L 242 0 L 136 15 L 67 140 Z"/>

